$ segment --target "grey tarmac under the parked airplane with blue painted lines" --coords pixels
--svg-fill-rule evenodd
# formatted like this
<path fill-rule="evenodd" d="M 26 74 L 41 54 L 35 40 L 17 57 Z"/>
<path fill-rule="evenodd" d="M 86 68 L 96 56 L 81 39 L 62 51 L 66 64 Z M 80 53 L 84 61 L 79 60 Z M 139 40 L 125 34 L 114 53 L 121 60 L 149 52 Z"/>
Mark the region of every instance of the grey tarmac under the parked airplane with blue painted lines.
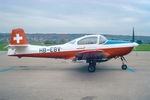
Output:
<path fill-rule="evenodd" d="M 149 100 L 150 52 L 97 64 L 49 58 L 17 58 L 0 52 L 0 100 Z"/>

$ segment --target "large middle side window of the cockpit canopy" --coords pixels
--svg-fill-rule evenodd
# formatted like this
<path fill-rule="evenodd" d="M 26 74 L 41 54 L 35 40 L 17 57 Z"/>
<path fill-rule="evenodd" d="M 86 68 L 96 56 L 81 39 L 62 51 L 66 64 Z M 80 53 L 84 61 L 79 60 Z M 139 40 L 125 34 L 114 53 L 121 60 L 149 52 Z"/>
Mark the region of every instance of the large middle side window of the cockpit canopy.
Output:
<path fill-rule="evenodd" d="M 78 41 L 78 45 L 84 45 L 84 44 L 96 44 L 97 43 L 97 37 L 86 37 Z"/>

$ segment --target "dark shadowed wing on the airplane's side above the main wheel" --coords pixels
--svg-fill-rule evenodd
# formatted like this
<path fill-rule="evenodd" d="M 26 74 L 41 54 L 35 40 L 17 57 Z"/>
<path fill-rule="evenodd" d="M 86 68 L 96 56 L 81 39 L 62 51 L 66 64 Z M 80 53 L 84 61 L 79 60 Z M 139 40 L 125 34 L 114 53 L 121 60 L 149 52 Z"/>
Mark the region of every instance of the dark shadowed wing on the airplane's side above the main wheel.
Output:
<path fill-rule="evenodd" d="M 87 60 L 87 59 L 103 59 L 108 58 L 109 53 L 104 52 L 103 50 L 87 50 L 75 54 L 76 60 Z"/>

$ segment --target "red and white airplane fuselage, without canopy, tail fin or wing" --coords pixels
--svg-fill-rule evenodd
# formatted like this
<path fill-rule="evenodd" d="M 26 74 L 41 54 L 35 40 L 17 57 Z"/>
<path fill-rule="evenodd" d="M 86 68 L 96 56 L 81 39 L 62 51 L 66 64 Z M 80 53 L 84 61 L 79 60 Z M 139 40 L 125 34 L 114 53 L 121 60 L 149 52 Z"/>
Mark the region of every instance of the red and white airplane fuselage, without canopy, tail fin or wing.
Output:
<path fill-rule="evenodd" d="M 107 41 L 104 44 L 92 44 L 92 45 L 77 45 L 77 44 L 63 44 L 54 46 L 37 46 L 28 45 L 20 49 L 12 50 L 9 49 L 9 56 L 18 57 L 46 57 L 46 58 L 64 58 L 69 59 L 74 57 L 78 52 L 86 50 L 103 50 L 110 54 L 110 57 L 123 56 L 130 53 L 136 43 L 132 42 L 122 42 L 117 41 Z"/>

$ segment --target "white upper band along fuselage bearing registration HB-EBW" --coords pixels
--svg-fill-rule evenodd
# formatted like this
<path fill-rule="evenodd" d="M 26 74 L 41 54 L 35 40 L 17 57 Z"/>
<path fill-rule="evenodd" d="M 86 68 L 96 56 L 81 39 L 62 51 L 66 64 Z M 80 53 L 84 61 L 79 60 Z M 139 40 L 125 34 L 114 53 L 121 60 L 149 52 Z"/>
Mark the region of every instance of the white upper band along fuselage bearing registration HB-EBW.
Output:
<path fill-rule="evenodd" d="M 110 48 L 124 48 L 124 47 L 134 47 L 136 43 L 122 43 L 122 44 L 91 44 L 91 45 L 74 45 L 74 44 L 64 44 L 55 46 L 36 46 L 28 45 L 26 47 L 16 47 L 16 50 L 8 50 L 8 55 L 14 54 L 33 54 L 33 53 L 48 53 L 48 52 L 61 52 L 61 51 L 76 51 L 76 50 L 92 50 L 92 49 L 110 49 Z M 84 47 L 82 49 L 82 47 Z M 79 49 L 81 48 L 81 49 Z M 46 52 L 42 50 L 45 50 Z"/>

